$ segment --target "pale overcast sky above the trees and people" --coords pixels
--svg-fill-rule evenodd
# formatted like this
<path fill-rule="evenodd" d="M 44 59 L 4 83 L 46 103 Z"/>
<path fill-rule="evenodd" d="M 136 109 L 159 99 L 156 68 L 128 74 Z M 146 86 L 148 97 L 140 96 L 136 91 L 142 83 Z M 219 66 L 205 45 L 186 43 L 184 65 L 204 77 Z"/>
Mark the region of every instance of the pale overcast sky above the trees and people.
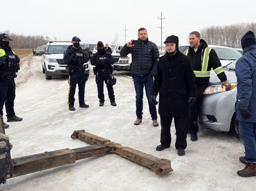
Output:
<path fill-rule="evenodd" d="M 43 35 L 50 39 L 81 38 L 83 43 L 125 44 L 137 39 L 140 27 L 157 45 L 169 35 L 180 44 L 188 42 L 191 31 L 256 21 L 255 0 L 12 0 L 1 5 L 0 31 L 23 35 Z M 1 0 L 1 4 L 3 0 Z M 125 35 L 126 34 L 126 35 Z"/>

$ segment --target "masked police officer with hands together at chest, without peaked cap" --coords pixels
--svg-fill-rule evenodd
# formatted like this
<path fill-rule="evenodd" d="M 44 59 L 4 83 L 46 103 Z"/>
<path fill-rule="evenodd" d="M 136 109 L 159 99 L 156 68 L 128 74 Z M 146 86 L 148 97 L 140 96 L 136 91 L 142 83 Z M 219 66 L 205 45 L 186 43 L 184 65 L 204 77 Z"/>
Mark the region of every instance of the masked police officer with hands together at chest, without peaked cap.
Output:
<path fill-rule="evenodd" d="M 96 75 L 96 84 L 98 88 L 98 99 L 100 99 L 100 106 L 104 105 L 104 83 L 106 83 L 106 88 L 109 93 L 109 100 L 111 105 L 116 106 L 115 95 L 113 90 L 113 83 L 111 74 L 113 73 L 113 63 L 115 59 L 113 56 L 106 51 L 102 41 L 98 41 L 97 44 L 98 51 L 94 56 L 91 57 L 91 65 L 94 65 L 94 74 Z"/>

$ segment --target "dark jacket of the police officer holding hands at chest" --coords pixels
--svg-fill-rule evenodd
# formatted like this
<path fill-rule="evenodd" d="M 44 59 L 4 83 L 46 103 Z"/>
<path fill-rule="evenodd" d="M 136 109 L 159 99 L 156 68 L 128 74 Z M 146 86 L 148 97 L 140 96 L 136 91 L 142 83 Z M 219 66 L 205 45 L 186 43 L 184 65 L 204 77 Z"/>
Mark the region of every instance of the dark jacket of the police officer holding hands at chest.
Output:
<path fill-rule="evenodd" d="M 115 59 L 113 56 L 104 51 L 104 54 L 100 54 L 100 52 L 96 52 L 94 56 L 91 57 L 91 65 L 95 66 L 96 73 L 112 73 L 113 67 L 112 65 L 115 63 Z"/>

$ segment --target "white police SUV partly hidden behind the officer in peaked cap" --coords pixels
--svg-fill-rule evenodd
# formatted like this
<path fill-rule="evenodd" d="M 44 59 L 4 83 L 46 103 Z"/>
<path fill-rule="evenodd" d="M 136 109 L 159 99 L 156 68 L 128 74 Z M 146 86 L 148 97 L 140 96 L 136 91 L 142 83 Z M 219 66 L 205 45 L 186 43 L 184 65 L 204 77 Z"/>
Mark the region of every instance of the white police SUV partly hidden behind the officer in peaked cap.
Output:
<path fill-rule="evenodd" d="M 41 59 L 42 73 L 45 73 L 46 80 L 51 80 L 53 76 L 68 75 L 67 65 L 63 63 L 63 53 L 70 45 L 70 41 L 49 41 L 46 44 L 46 52 Z M 89 62 L 84 65 L 85 73 L 89 75 Z"/>

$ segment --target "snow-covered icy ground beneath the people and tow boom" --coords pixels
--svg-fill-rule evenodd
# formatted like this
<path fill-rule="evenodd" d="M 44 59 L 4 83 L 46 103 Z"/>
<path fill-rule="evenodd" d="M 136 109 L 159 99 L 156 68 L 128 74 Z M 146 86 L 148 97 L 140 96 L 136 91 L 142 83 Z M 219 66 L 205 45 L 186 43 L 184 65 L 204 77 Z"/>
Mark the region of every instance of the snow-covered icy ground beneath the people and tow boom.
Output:
<path fill-rule="evenodd" d="M 83 147 L 87 144 L 70 139 L 74 130 L 104 137 L 123 146 L 132 147 L 158 158 L 171 160 L 173 172 L 156 175 L 137 163 L 118 156 L 104 156 L 78 160 L 55 169 L 14 177 L 1 184 L 0 190 L 255 190 L 255 177 L 239 177 L 236 171 L 244 164 L 238 158 L 244 148 L 235 135 L 200 128 L 199 140 L 190 141 L 185 156 L 177 156 L 175 128 L 171 127 L 171 147 L 162 152 L 155 150 L 160 143 L 160 126 L 152 120 L 144 100 L 143 122 L 134 126 L 135 94 L 132 78 L 115 73 L 114 86 L 117 107 L 109 103 L 106 88 L 104 107 L 98 106 L 94 75 L 86 84 L 86 103 L 76 111 L 67 106 L 67 79 L 45 80 L 40 56 L 22 60 L 16 78 L 16 115 L 21 122 L 10 122 L 6 134 L 13 144 L 12 158 L 38 154 L 63 148 Z M 4 116 L 6 122 L 6 117 Z"/>

